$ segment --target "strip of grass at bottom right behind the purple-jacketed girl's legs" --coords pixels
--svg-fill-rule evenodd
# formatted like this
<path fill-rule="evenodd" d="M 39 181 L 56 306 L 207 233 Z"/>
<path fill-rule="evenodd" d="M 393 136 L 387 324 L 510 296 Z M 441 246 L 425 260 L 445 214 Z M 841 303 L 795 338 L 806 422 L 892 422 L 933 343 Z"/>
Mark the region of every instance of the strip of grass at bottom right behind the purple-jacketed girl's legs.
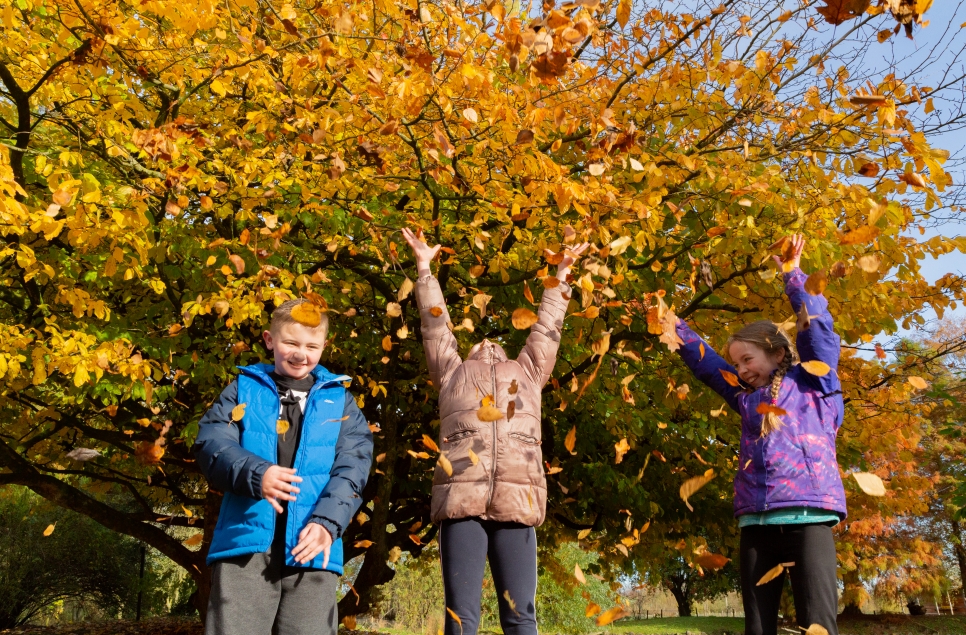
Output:
<path fill-rule="evenodd" d="M 621 620 L 603 632 L 613 635 L 724 635 L 744 633 L 745 621 L 740 617 L 666 617 L 652 620 Z M 791 635 L 800 629 L 779 628 Z M 909 617 L 908 615 L 867 616 L 839 620 L 840 635 L 964 635 L 966 616 Z"/>

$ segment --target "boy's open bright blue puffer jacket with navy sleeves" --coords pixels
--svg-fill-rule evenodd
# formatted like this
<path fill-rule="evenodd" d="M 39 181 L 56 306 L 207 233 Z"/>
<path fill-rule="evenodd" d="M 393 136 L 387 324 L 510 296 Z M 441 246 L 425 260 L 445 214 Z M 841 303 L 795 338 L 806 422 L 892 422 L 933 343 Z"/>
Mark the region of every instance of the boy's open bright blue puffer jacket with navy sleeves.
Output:
<path fill-rule="evenodd" d="M 261 479 L 277 460 L 279 395 L 268 373 L 273 366 L 256 364 L 222 392 L 201 419 L 194 452 L 198 466 L 214 489 L 224 492 L 208 564 L 216 560 L 268 550 L 278 514 L 261 497 Z M 301 439 L 295 455 L 302 477 L 296 500 L 288 505 L 286 564 L 321 569 L 324 555 L 299 565 L 292 557 L 298 536 L 309 522 L 323 525 L 333 538 L 326 569 L 342 574 L 341 535 L 362 504 L 362 490 L 372 464 L 372 433 L 343 382 L 321 366 L 312 371 L 315 385 L 305 402 Z M 241 421 L 231 411 L 245 404 Z"/>

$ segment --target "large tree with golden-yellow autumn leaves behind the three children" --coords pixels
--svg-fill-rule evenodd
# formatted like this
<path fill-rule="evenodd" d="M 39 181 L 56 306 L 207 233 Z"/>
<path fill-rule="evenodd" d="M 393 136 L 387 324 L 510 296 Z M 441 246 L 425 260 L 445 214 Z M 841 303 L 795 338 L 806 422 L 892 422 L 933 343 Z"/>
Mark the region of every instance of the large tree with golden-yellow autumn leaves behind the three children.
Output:
<path fill-rule="evenodd" d="M 687 386 L 674 314 L 717 345 L 787 317 L 767 247 L 790 231 L 850 345 L 963 299 L 919 261 L 966 241 L 910 233 L 959 210 L 931 139 L 963 78 L 862 75 L 889 16 L 832 32 L 809 7 L 750 0 L 547 2 L 532 20 L 446 0 L 2 6 L 0 483 L 152 545 L 194 576 L 202 610 L 220 499 L 189 448 L 233 368 L 268 359 L 259 333 L 289 297 L 329 311 L 324 363 L 380 426 L 342 614 L 368 609 L 393 550 L 433 537 L 419 453 L 437 404 L 402 226 L 446 246 L 461 344 L 510 351 L 526 336 L 511 314 L 552 284 L 555 252 L 597 246 L 545 394 L 543 531 L 589 530 L 618 567 L 731 522 L 701 499 L 730 496 L 736 418 Z M 919 372 L 899 371 L 882 385 Z M 847 469 L 875 430 L 863 412 L 847 413 Z M 692 514 L 678 486 L 708 469 Z M 203 528 L 200 548 L 172 526 Z"/>

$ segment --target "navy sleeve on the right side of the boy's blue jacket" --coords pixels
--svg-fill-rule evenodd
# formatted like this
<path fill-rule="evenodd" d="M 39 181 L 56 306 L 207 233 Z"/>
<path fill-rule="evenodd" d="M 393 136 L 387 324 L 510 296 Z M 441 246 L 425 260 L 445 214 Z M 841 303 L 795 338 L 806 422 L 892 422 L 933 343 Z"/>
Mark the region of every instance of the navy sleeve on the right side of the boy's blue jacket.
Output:
<path fill-rule="evenodd" d="M 352 515 L 362 505 L 362 490 L 372 466 L 372 431 L 349 391 L 346 391 L 343 417 L 329 482 L 319 496 L 310 521 L 325 527 L 333 540 L 342 536 L 352 522 Z"/>

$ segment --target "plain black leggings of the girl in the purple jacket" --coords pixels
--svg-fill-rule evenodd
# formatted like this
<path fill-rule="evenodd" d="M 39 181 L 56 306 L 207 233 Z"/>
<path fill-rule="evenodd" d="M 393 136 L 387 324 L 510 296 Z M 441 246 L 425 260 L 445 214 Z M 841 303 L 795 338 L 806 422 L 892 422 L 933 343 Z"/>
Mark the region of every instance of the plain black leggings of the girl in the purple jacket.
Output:
<path fill-rule="evenodd" d="M 775 565 L 794 562 L 792 578 L 798 625 L 821 624 L 838 635 L 835 539 L 827 525 L 754 525 L 741 530 L 741 599 L 745 635 L 775 635 L 785 572 L 757 586 Z"/>

